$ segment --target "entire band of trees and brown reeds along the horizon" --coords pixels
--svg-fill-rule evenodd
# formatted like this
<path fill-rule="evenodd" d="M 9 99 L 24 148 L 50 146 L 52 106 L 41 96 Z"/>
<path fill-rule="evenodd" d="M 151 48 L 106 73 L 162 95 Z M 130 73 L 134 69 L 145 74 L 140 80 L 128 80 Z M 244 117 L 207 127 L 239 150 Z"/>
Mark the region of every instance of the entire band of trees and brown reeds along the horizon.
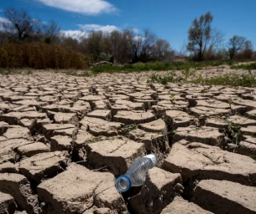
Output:
<path fill-rule="evenodd" d="M 188 56 L 173 50 L 167 40 L 149 29 L 142 33 L 134 29 L 81 32 L 72 38 L 65 36 L 55 21 L 41 22 L 23 9 L 8 8 L 4 17 L 0 23 L 0 67 L 82 69 L 101 61 L 134 64 L 185 57 L 196 61 L 253 59 L 255 55 L 247 38 L 235 35 L 225 44 L 225 34 L 212 28 L 210 12 L 191 23 Z"/>

